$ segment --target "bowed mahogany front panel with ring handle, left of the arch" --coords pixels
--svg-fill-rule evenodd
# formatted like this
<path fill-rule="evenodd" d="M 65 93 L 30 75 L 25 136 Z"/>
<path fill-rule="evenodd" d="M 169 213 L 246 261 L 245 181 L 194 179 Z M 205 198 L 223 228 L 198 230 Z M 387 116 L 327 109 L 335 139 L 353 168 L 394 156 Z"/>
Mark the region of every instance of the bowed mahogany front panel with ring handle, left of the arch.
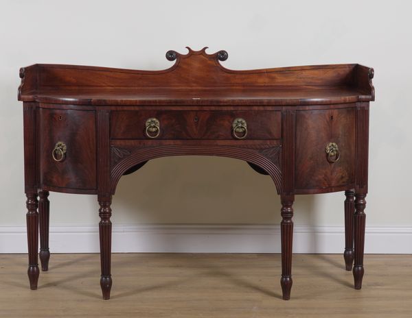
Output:
<path fill-rule="evenodd" d="M 40 182 L 44 186 L 96 188 L 95 112 L 38 110 Z M 55 149 L 65 145 L 65 154 Z M 60 161 L 56 161 L 60 160 Z"/>

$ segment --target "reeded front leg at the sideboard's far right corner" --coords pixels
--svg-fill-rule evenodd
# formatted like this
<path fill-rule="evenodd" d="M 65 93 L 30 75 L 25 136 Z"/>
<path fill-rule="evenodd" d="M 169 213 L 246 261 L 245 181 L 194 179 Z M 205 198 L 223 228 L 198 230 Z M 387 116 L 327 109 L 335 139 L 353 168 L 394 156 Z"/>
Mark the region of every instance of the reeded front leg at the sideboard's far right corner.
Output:
<path fill-rule="evenodd" d="M 355 289 L 362 288 L 363 278 L 363 247 L 365 245 L 365 200 L 366 194 L 356 193 L 355 195 L 355 214 L 354 214 L 354 236 L 355 236 L 355 262 L 354 262 L 354 280 Z"/>

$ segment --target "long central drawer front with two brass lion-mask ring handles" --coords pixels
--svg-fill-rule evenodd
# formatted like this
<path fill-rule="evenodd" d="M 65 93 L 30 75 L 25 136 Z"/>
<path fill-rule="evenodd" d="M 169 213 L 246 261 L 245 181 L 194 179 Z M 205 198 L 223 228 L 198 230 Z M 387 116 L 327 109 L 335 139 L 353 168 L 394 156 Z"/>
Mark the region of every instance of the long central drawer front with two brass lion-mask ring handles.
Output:
<path fill-rule="evenodd" d="M 152 133 L 146 132 L 146 121 L 159 121 Z M 278 111 L 180 111 L 137 110 L 111 113 L 111 138 L 113 139 L 236 139 L 233 121 L 244 119 L 247 135 L 240 127 L 236 135 L 244 139 L 279 139 L 281 114 Z"/>

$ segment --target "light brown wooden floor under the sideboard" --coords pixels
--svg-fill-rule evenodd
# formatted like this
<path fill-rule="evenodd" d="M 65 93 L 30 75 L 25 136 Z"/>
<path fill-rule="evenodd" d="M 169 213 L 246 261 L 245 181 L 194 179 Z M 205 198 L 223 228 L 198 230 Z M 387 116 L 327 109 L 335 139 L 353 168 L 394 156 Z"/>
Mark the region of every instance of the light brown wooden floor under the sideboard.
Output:
<path fill-rule="evenodd" d="M 101 299 L 98 254 L 52 254 L 30 291 L 27 256 L 0 254 L 0 317 L 412 317 L 412 256 L 367 255 L 363 289 L 341 255 L 293 258 L 281 299 L 278 254 L 113 254 Z"/>

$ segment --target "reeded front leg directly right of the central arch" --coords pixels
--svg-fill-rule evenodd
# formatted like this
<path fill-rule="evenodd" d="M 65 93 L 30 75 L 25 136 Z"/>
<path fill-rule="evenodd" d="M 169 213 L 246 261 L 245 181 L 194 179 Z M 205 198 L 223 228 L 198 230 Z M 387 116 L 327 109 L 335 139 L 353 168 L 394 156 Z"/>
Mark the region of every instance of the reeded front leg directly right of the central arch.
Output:
<path fill-rule="evenodd" d="M 293 241 L 293 200 L 294 197 L 282 197 L 282 222 L 280 232 L 282 236 L 282 286 L 283 299 L 290 299 L 292 289 L 292 241 Z"/>

